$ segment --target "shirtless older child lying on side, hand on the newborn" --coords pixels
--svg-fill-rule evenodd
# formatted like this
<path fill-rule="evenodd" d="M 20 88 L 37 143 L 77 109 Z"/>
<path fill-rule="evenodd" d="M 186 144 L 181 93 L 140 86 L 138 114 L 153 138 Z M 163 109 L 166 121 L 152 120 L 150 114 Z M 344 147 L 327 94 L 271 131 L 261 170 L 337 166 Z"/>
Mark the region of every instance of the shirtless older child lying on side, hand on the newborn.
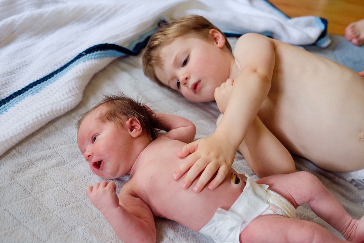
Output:
<path fill-rule="evenodd" d="M 178 154 L 191 154 L 174 173 L 188 171 L 185 189 L 201 173 L 195 192 L 217 187 L 237 150 L 259 177 L 294 172 L 296 154 L 364 179 L 364 72 L 256 33 L 241 36 L 233 55 L 223 33 L 195 15 L 150 38 L 143 69 L 191 101 L 216 100 L 223 113 L 213 135 Z"/>

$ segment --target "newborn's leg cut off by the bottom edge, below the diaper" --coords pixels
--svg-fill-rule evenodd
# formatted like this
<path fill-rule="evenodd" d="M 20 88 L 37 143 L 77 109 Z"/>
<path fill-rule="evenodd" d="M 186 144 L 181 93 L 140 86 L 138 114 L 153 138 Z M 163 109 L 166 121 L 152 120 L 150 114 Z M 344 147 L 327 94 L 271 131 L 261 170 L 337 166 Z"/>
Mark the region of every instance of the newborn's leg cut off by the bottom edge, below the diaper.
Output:
<path fill-rule="evenodd" d="M 240 234 L 240 242 L 269 243 L 343 243 L 324 227 L 306 220 L 278 215 L 261 215 L 252 220 Z"/>

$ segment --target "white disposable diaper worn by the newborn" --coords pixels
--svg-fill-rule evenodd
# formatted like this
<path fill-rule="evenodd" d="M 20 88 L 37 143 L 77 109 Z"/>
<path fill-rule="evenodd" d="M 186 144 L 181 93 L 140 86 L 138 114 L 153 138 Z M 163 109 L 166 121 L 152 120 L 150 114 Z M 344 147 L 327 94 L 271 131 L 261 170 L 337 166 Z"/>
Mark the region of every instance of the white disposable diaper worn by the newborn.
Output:
<path fill-rule="evenodd" d="M 217 243 L 239 243 L 240 233 L 257 216 L 277 214 L 298 218 L 296 209 L 268 185 L 257 184 L 248 178 L 246 186 L 229 211 L 218 208 L 213 218 L 199 231 Z"/>

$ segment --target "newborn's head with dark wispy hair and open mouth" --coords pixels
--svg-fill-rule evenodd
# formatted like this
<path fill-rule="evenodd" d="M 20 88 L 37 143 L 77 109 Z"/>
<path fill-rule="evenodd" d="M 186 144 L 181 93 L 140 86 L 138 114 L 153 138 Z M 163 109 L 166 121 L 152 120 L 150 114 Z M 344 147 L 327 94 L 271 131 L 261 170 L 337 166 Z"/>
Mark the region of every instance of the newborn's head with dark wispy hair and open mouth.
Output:
<path fill-rule="evenodd" d="M 158 136 L 150 108 L 123 94 L 105 96 L 82 115 L 77 127 L 81 153 L 92 172 L 105 179 L 127 174 L 137 150 L 145 148 L 139 142 L 148 144 Z"/>

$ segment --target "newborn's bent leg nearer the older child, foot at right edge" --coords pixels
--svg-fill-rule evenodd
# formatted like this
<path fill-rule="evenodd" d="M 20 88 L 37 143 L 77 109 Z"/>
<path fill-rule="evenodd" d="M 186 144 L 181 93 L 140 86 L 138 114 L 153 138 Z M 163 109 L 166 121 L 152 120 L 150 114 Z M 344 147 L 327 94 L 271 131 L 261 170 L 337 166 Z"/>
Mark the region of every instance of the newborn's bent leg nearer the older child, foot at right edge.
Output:
<path fill-rule="evenodd" d="M 353 219 L 339 200 L 316 178 L 300 171 L 257 180 L 284 196 L 294 207 L 308 203 L 312 211 L 351 242 L 364 242 L 364 217 Z"/>

